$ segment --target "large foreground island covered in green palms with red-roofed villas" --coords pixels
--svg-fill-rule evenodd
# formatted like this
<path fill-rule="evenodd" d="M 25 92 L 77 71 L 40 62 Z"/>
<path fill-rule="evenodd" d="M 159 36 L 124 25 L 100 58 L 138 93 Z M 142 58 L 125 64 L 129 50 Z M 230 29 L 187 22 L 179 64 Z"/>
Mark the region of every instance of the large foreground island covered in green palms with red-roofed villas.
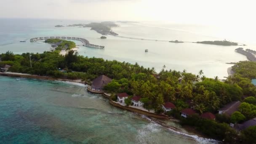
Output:
<path fill-rule="evenodd" d="M 181 125 L 224 143 L 256 143 L 256 124 L 250 123 L 256 117 L 256 87 L 251 83 L 256 78 L 253 61 L 235 64 L 232 67 L 235 74 L 221 82 L 218 77 L 205 77 L 202 70 L 195 75 L 163 66 L 157 73 L 155 68 L 137 63 L 88 58 L 73 50 L 64 56 L 59 50 L 23 54 L 8 51 L 0 59 L 0 67 L 9 72 L 78 79 L 92 88 L 96 80 L 104 79 L 102 89 L 111 93 L 109 102 L 113 104 L 133 105 L 156 115 L 176 118 Z"/>

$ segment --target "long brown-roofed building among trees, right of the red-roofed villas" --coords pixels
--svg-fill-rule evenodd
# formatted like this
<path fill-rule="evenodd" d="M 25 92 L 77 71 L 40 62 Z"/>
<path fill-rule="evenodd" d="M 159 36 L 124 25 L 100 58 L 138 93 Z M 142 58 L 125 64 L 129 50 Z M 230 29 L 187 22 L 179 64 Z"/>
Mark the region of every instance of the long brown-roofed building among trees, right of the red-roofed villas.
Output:
<path fill-rule="evenodd" d="M 240 101 L 233 101 L 229 104 L 226 104 L 224 107 L 218 110 L 219 114 L 226 114 L 228 116 L 231 116 L 235 111 L 238 110 L 240 104 Z"/>

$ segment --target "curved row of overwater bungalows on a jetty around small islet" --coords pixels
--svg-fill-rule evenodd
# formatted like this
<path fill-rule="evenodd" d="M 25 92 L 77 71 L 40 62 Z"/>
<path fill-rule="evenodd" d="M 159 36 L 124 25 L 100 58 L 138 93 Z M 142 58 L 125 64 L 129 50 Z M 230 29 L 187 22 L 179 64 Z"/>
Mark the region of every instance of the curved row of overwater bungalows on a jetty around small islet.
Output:
<path fill-rule="evenodd" d="M 105 46 L 90 44 L 88 40 L 86 40 L 85 38 L 80 38 L 80 37 L 35 37 L 35 38 L 30 39 L 30 42 L 36 42 L 37 40 L 48 40 L 48 39 L 79 40 L 83 43 L 83 46 L 86 46 L 89 48 L 98 48 L 98 49 L 105 48 Z"/>

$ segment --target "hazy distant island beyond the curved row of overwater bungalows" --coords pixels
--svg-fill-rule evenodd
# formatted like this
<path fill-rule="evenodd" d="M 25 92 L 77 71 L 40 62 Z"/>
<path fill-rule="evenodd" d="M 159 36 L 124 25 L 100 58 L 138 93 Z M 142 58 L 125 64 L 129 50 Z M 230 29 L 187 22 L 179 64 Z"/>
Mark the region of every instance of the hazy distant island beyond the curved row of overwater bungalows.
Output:
<path fill-rule="evenodd" d="M 56 25 L 55 27 L 65 27 L 62 25 Z M 90 24 L 69 24 L 66 27 L 91 27 L 91 30 L 95 30 L 96 32 L 100 33 L 101 35 L 114 35 L 117 36 L 118 34 L 113 32 L 111 27 L 118 27 L 112 21 L 103 21 L 103 22 L 92 22 Z"/>

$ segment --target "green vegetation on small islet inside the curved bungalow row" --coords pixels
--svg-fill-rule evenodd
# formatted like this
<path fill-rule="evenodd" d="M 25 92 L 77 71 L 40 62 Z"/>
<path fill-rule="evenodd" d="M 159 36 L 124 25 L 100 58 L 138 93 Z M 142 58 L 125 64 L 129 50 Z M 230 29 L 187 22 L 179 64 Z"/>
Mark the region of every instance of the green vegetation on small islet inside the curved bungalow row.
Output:
<path fill-rule="evenodd" d="M 55 50 L 70 50 L 75 48 L 75 42 L 68 41 L 68 40 L 60 40 L 60 39 L 48 39 L 45 40 L 45 43 L 51 43 L 52 45 L 58 45 Z"/>

